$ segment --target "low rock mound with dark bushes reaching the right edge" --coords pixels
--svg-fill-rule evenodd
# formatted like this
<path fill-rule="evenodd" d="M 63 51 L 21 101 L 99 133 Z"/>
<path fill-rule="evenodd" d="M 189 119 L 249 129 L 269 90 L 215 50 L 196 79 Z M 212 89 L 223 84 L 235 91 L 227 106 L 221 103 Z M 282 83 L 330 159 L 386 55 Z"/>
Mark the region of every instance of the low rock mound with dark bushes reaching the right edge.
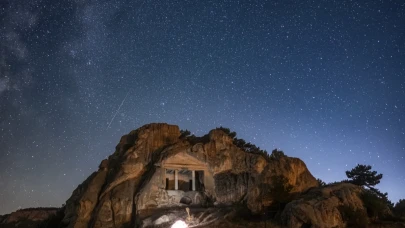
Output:
<path fill-rule="evenodd" d="M 388 205 L 370 196 L 371 191 L 347 182 L 312 188 L 286 205 L 282 223 L 288 228 L 405 228 L 405 220 L 394 218 Z M 376 207 L 385 219 L 370 216 Z"/>

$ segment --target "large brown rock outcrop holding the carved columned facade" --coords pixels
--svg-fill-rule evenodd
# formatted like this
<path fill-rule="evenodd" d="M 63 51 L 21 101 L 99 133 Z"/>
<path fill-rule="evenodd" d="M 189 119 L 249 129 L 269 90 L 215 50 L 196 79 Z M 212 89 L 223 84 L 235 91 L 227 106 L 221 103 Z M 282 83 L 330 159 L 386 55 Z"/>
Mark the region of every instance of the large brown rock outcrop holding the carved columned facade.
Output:
<path fill-rule="evenodd" d="M 167 190 L 172 175 L 167 171 L 176 167 L 182 171 L 180 177 L 188 170 L 203 172 L 197 174 L 203 185 L 197 191 Z M 178 126 L 149 124 L 124 135 L 99 170 L 77 187 L 66 202 L 62 224 L 134 227 L 154 211 L 184 206 L 185 201 L 187 205 L 245 203 L 259 213 L 272 203 L 271 195 L 264 192 L 274 175 L 285 176 L 294 186 L 292 192 L 318 186 L 300 159 L 271 160 L 246 153 L 221 130 L 190 140 L 180 137 Z"/>

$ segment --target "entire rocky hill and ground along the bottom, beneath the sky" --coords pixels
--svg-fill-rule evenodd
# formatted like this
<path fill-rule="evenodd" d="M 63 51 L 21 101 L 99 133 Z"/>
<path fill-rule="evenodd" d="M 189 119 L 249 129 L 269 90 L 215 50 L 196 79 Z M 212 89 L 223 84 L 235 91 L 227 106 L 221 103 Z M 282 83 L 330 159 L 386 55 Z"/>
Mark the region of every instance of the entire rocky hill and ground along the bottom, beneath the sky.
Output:
<path fill-rule="evenodd" d="M 188 133 L 156 123 L 122 136 L 98 171 L 39 227 L 171 227 L 181 220 L 207 228 L 336 228 L 370 227 L 375 220 L 362 187 L 320 187 L 300 159 L 277 150 L 269 155 L 229 129 L 202 137 Z M 389 208 L 381 211 L 390 216 Z M 0 217 L 0 227 L 47 217 L 17 214 Z"/>

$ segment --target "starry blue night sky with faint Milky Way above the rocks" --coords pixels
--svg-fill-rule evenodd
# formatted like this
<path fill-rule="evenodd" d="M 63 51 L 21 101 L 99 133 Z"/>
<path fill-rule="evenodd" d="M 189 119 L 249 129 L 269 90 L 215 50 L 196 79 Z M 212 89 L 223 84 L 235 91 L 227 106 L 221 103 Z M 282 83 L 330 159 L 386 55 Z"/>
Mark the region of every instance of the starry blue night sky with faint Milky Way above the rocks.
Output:
<path fill-rule="evenodd" d="M 403 1 L 0 1 L 0 214 L 61 206 L 122 135 L 224 126 L 405 198 Z"/>

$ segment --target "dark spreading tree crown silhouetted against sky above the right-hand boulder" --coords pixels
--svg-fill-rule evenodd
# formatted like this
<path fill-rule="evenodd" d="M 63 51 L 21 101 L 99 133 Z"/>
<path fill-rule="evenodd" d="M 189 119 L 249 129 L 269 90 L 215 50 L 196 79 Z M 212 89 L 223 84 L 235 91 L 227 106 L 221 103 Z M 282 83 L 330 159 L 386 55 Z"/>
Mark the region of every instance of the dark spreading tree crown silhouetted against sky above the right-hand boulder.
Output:
<path fill-rule="evenodd" d="M 351 179 L 351 183 L 359 186 L 372 188 L 380 183 L 382 174 L 377 174 L 377 171 L 371 171 L 371 165 L 358 164 L 350 171 L 346 171 L 347 178 Z"/>

